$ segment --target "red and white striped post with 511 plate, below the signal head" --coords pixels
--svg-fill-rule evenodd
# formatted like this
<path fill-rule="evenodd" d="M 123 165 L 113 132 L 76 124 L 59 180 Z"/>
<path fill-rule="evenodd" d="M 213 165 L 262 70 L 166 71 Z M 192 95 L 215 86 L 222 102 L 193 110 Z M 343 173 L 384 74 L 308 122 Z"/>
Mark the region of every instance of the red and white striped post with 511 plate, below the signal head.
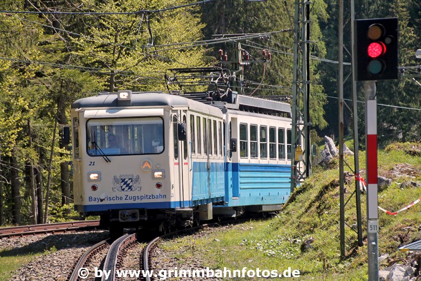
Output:
<path fill-rule="evenodd" d="M 368 280 L 378 275 L 378 195 L 377 195 L 377 101 L 374 81 L 364 84 L 366 94 L 367 243 Z"/>

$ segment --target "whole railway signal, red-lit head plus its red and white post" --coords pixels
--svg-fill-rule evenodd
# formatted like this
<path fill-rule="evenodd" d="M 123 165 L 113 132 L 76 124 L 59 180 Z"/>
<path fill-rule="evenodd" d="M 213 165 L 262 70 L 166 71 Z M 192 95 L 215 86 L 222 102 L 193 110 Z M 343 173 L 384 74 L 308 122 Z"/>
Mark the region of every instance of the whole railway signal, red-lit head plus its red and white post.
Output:
<path fill-rule="evenodd" d="M 353 71 L 365 81 L 368 280 L 378 281 L 376 80 L 398 78 L 398 19 L 354 21 Z"/>

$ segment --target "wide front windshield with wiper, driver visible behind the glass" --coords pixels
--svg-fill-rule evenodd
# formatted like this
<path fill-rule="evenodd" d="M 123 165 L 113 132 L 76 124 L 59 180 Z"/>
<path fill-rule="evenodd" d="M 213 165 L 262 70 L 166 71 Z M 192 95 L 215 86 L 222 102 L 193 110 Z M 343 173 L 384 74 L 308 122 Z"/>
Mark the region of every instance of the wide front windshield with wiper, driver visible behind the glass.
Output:
<path fill-rule="evenodd" d="M 164 150 L 160 117 L 89 119 L 86 137 L 90 156 L 159 154 Z"/>

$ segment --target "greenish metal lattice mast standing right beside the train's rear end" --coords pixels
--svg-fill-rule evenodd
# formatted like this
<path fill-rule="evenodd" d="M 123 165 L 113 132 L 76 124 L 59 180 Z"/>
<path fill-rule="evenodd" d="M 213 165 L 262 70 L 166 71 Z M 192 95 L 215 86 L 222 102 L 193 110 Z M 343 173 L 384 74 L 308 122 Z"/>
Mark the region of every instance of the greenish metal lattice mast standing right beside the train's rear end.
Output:
<path fill-rule="evenodd" d="M 297 183 L 311 175 L 310 149 L 310 1 L 295 2 L 294 67 L 292 84 L 291 192 Z M 304 139 L 304 143 L 302 140 Z M 297 159 L 295 151 L 303 148 Z M 304 147 L 303 147 L 304 146 Z M 298 156 L 298 155 L 297 155 Z"/>

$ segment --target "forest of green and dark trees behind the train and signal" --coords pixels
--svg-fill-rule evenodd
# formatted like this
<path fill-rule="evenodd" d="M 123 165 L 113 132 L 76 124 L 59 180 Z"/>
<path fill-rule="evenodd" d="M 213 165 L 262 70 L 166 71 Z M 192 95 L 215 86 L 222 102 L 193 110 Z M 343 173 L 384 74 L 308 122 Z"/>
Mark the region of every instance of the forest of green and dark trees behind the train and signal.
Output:
<path fill-rule="evenodd" d="M 421 3 L 418 0 L 356 0 L 356 18 L 398 17 L 399 65 L 421 64 Z M 0 225 L 37 224 L 75 216 L 71 153 L 61 143 L 73 101 L 103 91 L 166 91 L 164 73 L 174 67 L 211 66 L 232 43 L 171 43 L 292 28 L 294 1 L 209 0 L 3 0 L 0 4 Z M 164 11 L 157 11 L 166 9 Z M 347 10 L 348 9 L 348 10 Z M 15 13 L 26 11 L 31 13 Z M 57 13 L 61 12 L 61 13 Z M 69 14 L 66 12 L 76 12 Z M 349 7 L 345 6 L 345 14 Z M 311 121 L 317 136 L 338 131 L 338 2 L 311 4 Z M 345 26 L 348 40 L 349 24 Z M 292 95 L 293 32 L 249 39 L 245 93 Z M 345 54 L 345 61 L 350 57 Z M 348 67 L 348 68 L 347 68 Z M 345 66 L 345 73 L 349 73 Z M 420 72 L 420 68 L 413 68 Z M 262 80 L 263 78 L 263 80 Z M 262 82 L 260 82 L 262 81 Z M 359 100 L 364 101 L 358 83 Z M 350 85 L 345 85 L 350 99 Z M 411 79 L 377 83 L 380 146 L 421 138 L 421 87 Z M 386 105 L 386 106 L 381 106 Z M 391 107 L 392 106 L 392 107 Z M 406 109 L 400 108 L 404 107 Z M 359 104 L 364 135 L 364 103 Z M 345 133 L 351 126 L 345 112 Z M 363 148 L 364 149 L 364 148 Z"/>

